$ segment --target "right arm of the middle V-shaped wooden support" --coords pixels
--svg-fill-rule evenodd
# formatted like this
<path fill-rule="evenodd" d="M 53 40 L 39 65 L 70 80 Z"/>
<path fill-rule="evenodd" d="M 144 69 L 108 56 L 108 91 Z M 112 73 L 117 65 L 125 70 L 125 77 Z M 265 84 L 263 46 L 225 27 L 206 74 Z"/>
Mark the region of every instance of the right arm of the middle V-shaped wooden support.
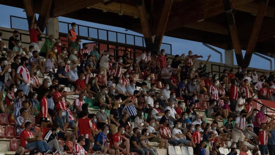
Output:
<path fill-rule="evenodd" d="M 164 6 L 161 12 L 161 16 L 158 22 L 157 32 L 154 39 L 154 48 L 159 49 L 163 39 L 163 35 L 166 29 L 170 11 L 172 8 L 173 0 L 165 0 Z"/>

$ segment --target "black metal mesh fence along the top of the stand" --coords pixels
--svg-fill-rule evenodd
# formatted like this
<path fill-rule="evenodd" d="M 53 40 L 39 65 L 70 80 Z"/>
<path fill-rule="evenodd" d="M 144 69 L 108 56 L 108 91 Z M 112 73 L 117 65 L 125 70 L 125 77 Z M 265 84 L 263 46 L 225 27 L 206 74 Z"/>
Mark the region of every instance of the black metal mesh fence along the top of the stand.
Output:
<path fill-rule="evenodd" d="M 11 28 L 20 29 L 28 31 L 28 22 L 27 18 L 10 16 Z M 59 32 L 60 33 L 68 33 L 71 28 L 71 23 L 59 21 Z M 43 32 L 46 34 L 47 27 Z M 116 31 L 101 29 L 101 28 L 93 28 L 84 25 L 77 25 L 75 32 L 78 36 L 88 37 L 93 39 L 106 40 L 115 43 L 121 43 L 127 45 L 134 45 L 140 47 L 146 47 L 143 36 L 120 33 Z M 162 43 L 160 49 L 165 49 L 166 53 L 172 54 L 172 44 Z"/>

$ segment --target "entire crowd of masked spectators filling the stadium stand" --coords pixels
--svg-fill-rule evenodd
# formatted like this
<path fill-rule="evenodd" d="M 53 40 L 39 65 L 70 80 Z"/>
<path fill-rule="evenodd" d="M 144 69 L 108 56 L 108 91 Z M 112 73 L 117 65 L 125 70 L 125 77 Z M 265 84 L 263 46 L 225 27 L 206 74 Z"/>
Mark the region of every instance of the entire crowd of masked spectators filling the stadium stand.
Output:
<path fill-rule="evenodd" d="M 34 21 L 29 47 L 22 47 L 16 30 L 8 46 L 0 41 L 0 110 L 13 111 L 22 146 L 18 154 L 24 149 L 30 154 L 32 150 L 65 154 L 67 142 L 76 140 L 74 155 L 93 151 L 157 155 L 150 142 L 166 149 L 193 147 L 195 155 L 220 155 L 220 147 L 231 148 L 229 155 L 237 155 L 236 147 L 241 155 L 248 150 L 252 155 L 258 155 L 258 150 L 261 155 L 274 155 L 273 119 L 267 121 L 265 106 L 260 111 L 252 107 L 256 95 L 275 101 L 273 72 L 259 75 L 256 69 L 238 67 L 237 73 L 225 69 L 219 77 L 207 71 L 211 55 L 195 66 L 202 56 L 192 51 L 175 55 L 171 63 L 164 49 L 146 51 L 137 60 L 124 50 L 114 58 L 97 45 L 92 51 L 86 43 L 81 48 L 76 23 L 71 26 L 68 47 L 50 35 L 39 48 L 42 32 Z M 40 74 L 52 79 L 40 83 Z M 78 95 L 73 103 L 66 99 L 71 95 Z M 99 107 L 97 113 L 89 113 L 90 102 Z M 197 110 L 205 110 L 205 115 Z M 207 123 L 207 118 L 214 121 Z M 42 134 L 37 127 L 49 130 Z M 60 145 L 60 139 L 65 145 Z"/>

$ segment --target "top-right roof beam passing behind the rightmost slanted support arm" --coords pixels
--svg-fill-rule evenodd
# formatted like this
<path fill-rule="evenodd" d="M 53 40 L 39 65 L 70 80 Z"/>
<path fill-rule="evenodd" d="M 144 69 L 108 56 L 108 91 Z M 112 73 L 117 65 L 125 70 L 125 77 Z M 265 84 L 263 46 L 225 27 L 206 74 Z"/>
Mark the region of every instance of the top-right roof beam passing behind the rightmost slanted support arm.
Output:
<path fill-rule="evenodd" d="M 244 4 L 238 8 L 235 8 L 235 9 L 238 11 L 252 13 L 252 14 L 257 15 L 259 6 L 260 6 L 260 4 L 251 2 L 251 3 Z M 264 16 L 274 18 L 274 13 L 275 13 L 275 8 L 271 7 L 271 6 L 267 6 Z"/>

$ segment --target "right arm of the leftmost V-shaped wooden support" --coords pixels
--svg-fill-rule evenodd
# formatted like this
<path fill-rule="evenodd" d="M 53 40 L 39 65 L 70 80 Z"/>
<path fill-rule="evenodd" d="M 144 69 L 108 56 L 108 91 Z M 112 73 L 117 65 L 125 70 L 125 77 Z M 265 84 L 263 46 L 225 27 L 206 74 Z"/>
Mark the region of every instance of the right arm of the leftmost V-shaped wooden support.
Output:
<path fill-rule="evenodd" d="M 42 32 L 44 32 L 46 28 L 46 23 L 49 18 L 50 9 L 52 6 L 53 0 L 43 0 L 42 1 L 42 7 L 39 13 L 37 26 L 40 28 Z"/>

